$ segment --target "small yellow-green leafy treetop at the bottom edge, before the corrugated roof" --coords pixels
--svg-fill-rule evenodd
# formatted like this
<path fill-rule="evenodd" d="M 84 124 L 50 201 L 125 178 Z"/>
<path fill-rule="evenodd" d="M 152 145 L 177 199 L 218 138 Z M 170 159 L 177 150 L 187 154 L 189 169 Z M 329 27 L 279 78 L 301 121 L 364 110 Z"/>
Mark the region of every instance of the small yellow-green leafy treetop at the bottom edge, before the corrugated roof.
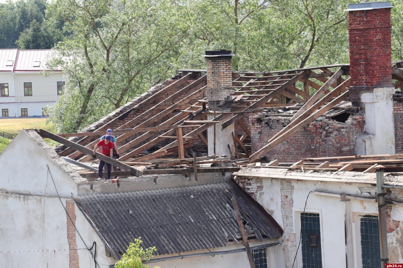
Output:
<path fill-rule="evenodd" d="M 139 237 L 139 239 L 135 238 L 134 243 L 130 243 L 126 253 L 116 262 L 115 268 L 149 268 L 150 266 L 143 264 L 141 259 L 143 258 L 143 260 L 149 261 L 153 256 L 153 252 L 157 251 L 157 248 L 149 247 L 143 249 L 140 245 L 141 243 L 143 243 L 141 237 Z M 154 268 L 159 267 L 154 266 Z"/>

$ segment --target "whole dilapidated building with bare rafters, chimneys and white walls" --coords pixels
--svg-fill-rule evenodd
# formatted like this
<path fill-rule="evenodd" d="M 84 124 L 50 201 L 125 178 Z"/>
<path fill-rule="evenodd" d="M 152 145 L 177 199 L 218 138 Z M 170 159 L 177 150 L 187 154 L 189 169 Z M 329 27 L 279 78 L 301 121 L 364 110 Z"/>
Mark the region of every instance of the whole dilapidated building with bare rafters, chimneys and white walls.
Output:
<path fill-rule="evenodd" d="M 112 267 L 141 236 L 163 267 L 379 267 L 387 237 L 403 262 L 403 61 L 379 3 L 349 5 L 350 64 L 234 71 L 230 50 L 207 51 L 206 70 L 179 70 L 80 133 L 21 132 L 0 155 L 0 258 Z M 120 158 L 96 156 L 119 179 L 96 181 L 109 128 Z M 16 258 L 16 241 L 30 253 Z"/>

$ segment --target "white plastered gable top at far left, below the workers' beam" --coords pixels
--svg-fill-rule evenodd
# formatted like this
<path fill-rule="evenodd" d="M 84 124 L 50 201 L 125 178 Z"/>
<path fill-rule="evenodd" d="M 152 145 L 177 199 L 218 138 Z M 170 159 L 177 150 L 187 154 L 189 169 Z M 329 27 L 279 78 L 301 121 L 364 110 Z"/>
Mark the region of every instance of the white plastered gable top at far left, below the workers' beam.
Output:
<path fill-rule="evenodd" d="M 57 196 L 48 166 L 58 194 L 77 196 L 78 187 L 71 177 L 81 177 L 36 132 L 22 130 L 0 154 L 0 191 Z"/>

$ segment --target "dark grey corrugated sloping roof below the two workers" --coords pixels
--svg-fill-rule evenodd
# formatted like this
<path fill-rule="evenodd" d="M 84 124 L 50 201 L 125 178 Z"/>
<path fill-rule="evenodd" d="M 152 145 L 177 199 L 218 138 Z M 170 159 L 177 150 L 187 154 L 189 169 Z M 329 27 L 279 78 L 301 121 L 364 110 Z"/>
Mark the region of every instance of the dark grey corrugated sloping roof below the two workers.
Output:
<path fill-rule="evenodd" d="M 75 198 L 115 259 L 135 238 L 158 254 L 225 247 L 241 239 L 231 197 L 235 194 L 248 237 L 277 238 L 281 227 L 260 204 L 230 181 L 202 186 Z"/>

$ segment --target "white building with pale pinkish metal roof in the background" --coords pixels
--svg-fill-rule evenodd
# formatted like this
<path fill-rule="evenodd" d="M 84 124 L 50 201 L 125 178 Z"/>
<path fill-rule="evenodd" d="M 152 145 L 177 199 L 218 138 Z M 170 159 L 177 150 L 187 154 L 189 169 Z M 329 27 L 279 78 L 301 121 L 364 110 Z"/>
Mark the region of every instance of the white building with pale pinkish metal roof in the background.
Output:
<path fill-rule="evenodd" d="M 64 89 L 60 70 L 44 74 L 51 49 L 0 49 L 0 117 L 44 115 Z"/>

